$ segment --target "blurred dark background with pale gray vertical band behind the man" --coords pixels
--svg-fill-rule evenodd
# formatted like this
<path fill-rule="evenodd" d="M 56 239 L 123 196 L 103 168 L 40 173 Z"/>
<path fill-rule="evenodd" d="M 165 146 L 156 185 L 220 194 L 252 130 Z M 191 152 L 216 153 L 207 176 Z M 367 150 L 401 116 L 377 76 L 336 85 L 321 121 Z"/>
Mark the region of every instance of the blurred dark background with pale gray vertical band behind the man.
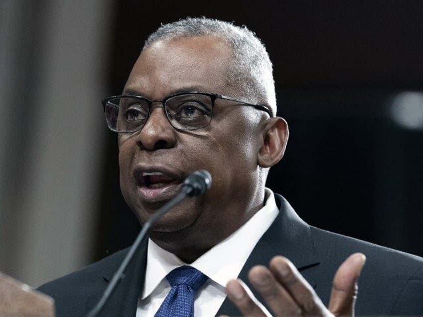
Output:
<path fill-rule="evenodd" d="M 129 246 L 119 94 L 146 36 L 247 25 L 290 125 L 268 186 L 309 224 L 423 256 L 423 1 L 0 0 L 0 271 L 31 286 Z"/>

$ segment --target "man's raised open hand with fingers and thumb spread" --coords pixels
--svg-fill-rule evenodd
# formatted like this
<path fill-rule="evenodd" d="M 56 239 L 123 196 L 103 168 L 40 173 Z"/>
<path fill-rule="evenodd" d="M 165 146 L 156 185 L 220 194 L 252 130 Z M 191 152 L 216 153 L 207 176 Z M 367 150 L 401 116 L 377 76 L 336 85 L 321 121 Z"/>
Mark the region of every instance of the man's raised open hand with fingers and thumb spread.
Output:
<path fill-rule="evenodd" d="M 365 261 L 362 253 L 354 253 L 341 264 L 333 279 L 328 308 L 295 266 L 282 256 L 274 257 L 269 268 L 253 267 L 248 279 L 274 316 L 353 316 L 357 279 Z M 245 291 L 241 281 L 229 281 L 226 293 L 244 316 L 267 316 L 265 309 Z"/>

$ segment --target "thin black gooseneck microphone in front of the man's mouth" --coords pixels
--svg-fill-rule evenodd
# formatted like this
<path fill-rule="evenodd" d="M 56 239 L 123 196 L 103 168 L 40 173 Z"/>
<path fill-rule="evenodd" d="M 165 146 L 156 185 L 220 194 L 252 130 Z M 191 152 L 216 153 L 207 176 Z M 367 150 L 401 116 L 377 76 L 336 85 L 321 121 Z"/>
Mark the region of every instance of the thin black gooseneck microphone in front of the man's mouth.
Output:
<path fill-rule="evenodd" d="M 119 269 L 116 271 L 115 275 L 113 276 L 112 280 L 104 291 L 103 296 L 97 302 L 97 304 L 88 312 L 86 317 L 95 317 L 103 309 L 104 304 L 106 304 L 108 298 L 112 294 L 113 290 L 116 288 L 118 282 L 125 277 L 125 269 L 131 261 L 132 257 L 134 256 L 135 252 L 137 251 L 141 241 L 144 239 L 151 225 L 161 216 L 166 214 L 172 207 L 180 203 L 182 200 L 187 197 L 194 197 L 204 194 L 206 190 L 210 188 L 211 185 L 212 175 L 210 175 L 210 173 L 204 169 L 197 170 L 188 175 L 187 178 L 185 178 L 180 193 L 176 195 L 173 199 L 169 200 L 162 208 L 155 212 L 149 220 L 145 222 L 140 233 L 138 234 L 137 238 L 129 249 L 128 254 L 123 259 L 122 264 L 120 265 Z"/>

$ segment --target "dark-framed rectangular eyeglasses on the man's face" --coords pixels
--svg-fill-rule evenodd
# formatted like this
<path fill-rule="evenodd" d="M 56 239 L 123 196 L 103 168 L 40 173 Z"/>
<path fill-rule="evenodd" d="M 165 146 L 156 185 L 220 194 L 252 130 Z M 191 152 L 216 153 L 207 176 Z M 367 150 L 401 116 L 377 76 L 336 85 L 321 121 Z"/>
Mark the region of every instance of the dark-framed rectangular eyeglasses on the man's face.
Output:
<path fill-rule="evenodd" d="M 196 130 L 206 127 L 213 116 L 216 99 L 230 100 L 240 106 L 251 106 L 273 117 L 270 107 L 255 105 L 218 94 L 205 92 L 179 93 L 162 100 L 141 96 L 113 96 L 102 101 L 110 130 L 120 133 L 141 130 L 151 114 L 153 102 L 161 102 L 170 124 L 177 130 Z"/>

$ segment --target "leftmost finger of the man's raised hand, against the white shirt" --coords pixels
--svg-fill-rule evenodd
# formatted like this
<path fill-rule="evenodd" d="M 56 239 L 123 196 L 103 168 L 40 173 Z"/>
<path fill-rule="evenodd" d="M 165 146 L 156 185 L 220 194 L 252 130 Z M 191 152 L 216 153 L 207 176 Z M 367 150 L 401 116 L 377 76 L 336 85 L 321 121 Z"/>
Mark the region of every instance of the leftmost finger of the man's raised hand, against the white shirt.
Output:
<path fill-rule="evenodd" d="M 271 316 L 266 308 L 255 299 L 251 291 L 247 292 L 247 289 L 241 280 L 231 280 L 226 285 L 227 296 L 243 316 Z"/>

